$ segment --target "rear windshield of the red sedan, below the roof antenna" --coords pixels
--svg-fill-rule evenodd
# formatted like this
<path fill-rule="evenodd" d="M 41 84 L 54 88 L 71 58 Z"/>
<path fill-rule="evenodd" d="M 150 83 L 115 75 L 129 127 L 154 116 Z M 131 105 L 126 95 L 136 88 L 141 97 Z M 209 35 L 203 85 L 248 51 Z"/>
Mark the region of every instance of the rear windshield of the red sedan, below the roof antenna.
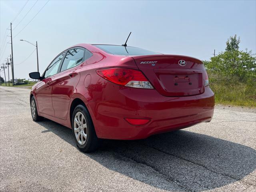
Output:
<path fill-rule="evenodd" d="M 136 47 L 120 46 L 120 45 L 94 45 L 101 50 L 114 55 L 159 55 L 160 53 L 148 51 Z"/>

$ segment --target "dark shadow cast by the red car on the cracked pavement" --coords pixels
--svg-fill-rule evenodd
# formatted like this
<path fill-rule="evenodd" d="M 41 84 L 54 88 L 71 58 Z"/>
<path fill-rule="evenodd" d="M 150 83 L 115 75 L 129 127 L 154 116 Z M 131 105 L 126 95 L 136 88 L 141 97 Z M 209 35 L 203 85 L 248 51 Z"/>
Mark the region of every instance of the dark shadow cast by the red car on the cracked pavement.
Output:
<path fill-rule="evenodd" d="M 76 146 L 72 130 L 50 120 L 38 122 Z M 161 190 L 203 191 L 237 181 L 255 186 L 245 176 L 256 168 L 256 150 L 204 134 L 179 130 L 144 140 L 104 140 L 84 153 L 102 166 Z"/>

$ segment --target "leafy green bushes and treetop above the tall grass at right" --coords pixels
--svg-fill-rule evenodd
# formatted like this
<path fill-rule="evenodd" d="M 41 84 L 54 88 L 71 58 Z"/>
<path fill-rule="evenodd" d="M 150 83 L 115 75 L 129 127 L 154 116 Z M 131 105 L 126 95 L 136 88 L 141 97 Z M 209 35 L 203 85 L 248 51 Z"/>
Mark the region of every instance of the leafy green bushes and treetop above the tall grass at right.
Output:
<path fill-rule="evenodd" d="M 252 51 L 239 50 L 240 37 L 230 36 L 226 42 L 225 51 L 203 61 L 210 78 L 213 81 L 250 82 L 256 81 L 256 57 Z"/>

